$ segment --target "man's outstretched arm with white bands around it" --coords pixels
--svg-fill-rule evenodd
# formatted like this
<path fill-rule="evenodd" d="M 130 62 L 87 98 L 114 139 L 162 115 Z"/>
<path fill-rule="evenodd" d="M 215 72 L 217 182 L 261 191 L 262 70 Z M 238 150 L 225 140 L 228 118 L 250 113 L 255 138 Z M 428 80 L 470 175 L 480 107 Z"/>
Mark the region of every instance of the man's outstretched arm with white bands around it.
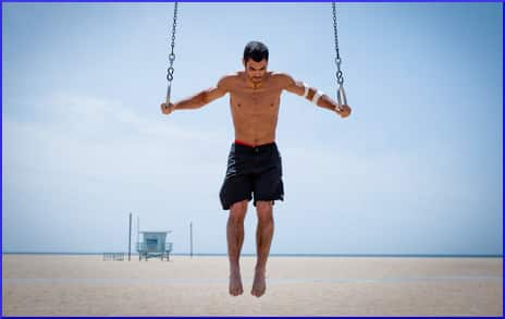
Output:
<path fill-rule="evenodd" d="M 303 82 L 294 81 L 290 75 L 283 74 L 283 77 L 285 82 L 285 90 L 296 94 L 298 96 L 303 96 L 316 106 L 334 111 L 342 118 L 347 118 L 350 114 L 349 106 L 341 106 L 336 103 L 328 95 L 323 94 L 315 87 L 310 87 L 309 85 Z"/>

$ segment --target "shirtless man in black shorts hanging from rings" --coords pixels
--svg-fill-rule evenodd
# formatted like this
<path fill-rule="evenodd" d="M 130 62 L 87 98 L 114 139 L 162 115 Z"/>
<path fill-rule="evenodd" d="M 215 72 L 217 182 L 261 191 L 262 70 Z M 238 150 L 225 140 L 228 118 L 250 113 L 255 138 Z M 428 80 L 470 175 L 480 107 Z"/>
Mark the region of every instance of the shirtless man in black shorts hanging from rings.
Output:
<path fill-rule="evenodd" d="M 162 103 L 163 114 L 174 110 L 198 109 L 230 94 L 235 142 L 227 159 L 227 170 L 220 192 L 221 205 L 230 210 L 226 225 L 230 259 L 230 294 L 243 293 L 239 256 L 244 242 L 244 218 L 253 199 L 258 214 L 256 231 L 257 263 L 251 294 L 266 291 L 266 266 L 273 236 L 272 206 L 283 200 L 281 156 L 275 145 L 280 98 L 283 90 L 305 97 L 318 107 L 350 114 L 348 106 L 338 106 L 329 96 L 285 73 L 267 71 L 268 48 L 258 41 L 244 49 L 245 70 L 223 76 L 215 87 L 202 90 L 175 103 Z"/>

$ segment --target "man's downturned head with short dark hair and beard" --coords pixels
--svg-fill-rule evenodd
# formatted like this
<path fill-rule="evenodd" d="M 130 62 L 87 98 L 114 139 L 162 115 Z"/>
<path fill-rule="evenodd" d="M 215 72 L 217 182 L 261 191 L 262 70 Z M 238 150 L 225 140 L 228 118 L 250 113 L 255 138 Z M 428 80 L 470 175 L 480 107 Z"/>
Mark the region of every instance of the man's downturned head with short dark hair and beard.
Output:
<path fill-rule="evenodd" d="M 244 48 L 243 63 L 253 83 L 260 83 L 267 73 L 268 56 L 267 46 L 259 41 L 250 41 Z"/>

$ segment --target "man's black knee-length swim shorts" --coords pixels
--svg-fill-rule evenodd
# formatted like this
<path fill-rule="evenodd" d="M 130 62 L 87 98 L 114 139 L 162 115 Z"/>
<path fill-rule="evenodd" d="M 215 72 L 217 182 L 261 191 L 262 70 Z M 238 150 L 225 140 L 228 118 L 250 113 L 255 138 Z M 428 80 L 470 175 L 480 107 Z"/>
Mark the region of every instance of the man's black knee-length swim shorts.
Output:
<path fill-rule="evenodd" d="M 226 176 L 220 192 L 224 210 L 237 203 L 253 199 L 284 200 L 282 162 L 275 143 L 259 146 L 232 144 L 227 158 Z"/>

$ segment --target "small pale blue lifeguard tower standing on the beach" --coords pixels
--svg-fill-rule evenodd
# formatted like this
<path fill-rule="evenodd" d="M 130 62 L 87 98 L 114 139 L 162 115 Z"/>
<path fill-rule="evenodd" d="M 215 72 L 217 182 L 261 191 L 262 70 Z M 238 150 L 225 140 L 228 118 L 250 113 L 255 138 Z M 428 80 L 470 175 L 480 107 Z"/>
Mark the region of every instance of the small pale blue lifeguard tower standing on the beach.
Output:
<path fill-rule="evenodd" d="M 172 243 L 167 242 L 168 232 L 139 232 L 139 241 L 137 243 L 138 260 L 145 258 L 147 261 L 150 257 L 161 257 L 163 260 L 170 260 L 172 251 Z"/>

